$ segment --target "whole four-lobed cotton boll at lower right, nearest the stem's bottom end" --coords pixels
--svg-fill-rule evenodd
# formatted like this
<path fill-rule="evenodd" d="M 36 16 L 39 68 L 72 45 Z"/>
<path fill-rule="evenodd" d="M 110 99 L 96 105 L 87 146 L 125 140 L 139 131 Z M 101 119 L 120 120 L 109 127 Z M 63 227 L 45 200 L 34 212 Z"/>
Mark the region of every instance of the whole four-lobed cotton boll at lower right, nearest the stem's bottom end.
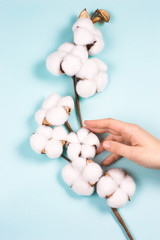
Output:
<path fill-rule="evenodd" d="M 112 208 L 123 207 L 135 192 L 135 182 L 122 169 L 108 170 L 106 176 L 97 183 L 97 193 L 107 198 L 107 204 Z"/>

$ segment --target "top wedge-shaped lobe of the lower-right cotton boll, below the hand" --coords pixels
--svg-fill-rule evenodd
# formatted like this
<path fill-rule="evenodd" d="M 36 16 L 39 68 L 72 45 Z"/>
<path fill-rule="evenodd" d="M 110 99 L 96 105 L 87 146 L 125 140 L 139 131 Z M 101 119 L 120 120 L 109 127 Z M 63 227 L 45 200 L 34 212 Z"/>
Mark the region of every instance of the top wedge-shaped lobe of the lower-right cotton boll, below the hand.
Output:
<path fill-rule="evenodd" d="M 122 180 L 124 179 L 125 172 L 120 168 L 112 168 L 107 171 L 107 173 L 111 176 L 111 178 L 120 185 Z"/>

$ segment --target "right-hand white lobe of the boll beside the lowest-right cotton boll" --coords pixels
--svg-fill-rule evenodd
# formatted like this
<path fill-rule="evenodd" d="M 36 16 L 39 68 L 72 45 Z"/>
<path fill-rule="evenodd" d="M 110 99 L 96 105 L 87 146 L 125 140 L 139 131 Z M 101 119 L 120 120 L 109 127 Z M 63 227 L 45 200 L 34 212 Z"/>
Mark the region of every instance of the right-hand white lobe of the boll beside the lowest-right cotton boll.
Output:
<path fill-rule="evenodd" d="M 98 182 L 99 178 L 102 176 L 103 170 L 97 163 L 88 163 L 88 165 L 83 169 L 82 177 L 90 184 L 95 184 Z"/>

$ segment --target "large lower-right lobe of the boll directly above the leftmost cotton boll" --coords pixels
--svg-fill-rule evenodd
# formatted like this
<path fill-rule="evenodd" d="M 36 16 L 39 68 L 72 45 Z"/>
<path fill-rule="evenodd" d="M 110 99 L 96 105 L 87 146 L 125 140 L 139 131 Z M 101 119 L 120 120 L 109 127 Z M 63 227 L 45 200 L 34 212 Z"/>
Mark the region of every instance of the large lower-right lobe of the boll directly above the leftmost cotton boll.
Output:
<path fill-rule="evenodd" d="M 46 120 L 53 126 L 63 125 L 67 119 L 68 114 L 63 107 L 53 107 L 46 113 Z"/>

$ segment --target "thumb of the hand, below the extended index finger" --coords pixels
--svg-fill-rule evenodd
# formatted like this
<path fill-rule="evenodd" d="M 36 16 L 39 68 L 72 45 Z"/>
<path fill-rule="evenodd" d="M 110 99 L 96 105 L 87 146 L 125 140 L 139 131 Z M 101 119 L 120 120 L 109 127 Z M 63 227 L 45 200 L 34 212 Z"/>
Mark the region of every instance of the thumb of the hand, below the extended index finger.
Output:
<path fill-rule="evenodd" d="M 116 141 L 104 141 L 103 147 L 109 152 L 118 154 L 120 156 L 132 159 L 133 158 L 133 147 L 119 143 Z"/>

